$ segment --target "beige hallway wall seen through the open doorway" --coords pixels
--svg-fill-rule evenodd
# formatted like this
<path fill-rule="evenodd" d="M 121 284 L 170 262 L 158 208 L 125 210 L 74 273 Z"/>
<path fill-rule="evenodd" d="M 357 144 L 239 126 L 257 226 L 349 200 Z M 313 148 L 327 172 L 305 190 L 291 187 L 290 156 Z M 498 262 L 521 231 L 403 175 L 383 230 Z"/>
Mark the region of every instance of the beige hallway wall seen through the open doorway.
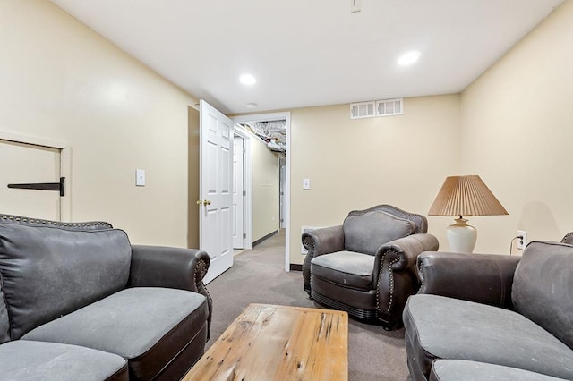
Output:
<path fill-rule="evenodd" d="M 251 139 L 252 241 L 278 230 L 278 157 L 267 145 Z"/>

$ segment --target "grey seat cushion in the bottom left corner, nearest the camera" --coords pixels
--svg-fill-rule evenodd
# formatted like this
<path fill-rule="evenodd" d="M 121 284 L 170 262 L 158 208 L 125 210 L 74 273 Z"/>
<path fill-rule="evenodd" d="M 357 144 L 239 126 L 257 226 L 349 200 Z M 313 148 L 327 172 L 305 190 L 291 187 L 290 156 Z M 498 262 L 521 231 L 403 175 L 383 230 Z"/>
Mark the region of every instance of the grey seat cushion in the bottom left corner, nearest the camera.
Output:
<path fill-rule="evenodd" d="M 0 345 L 3 380 L 128 380 L 127 361 L 116 354 L 59 343 L 16 340 Z"/>

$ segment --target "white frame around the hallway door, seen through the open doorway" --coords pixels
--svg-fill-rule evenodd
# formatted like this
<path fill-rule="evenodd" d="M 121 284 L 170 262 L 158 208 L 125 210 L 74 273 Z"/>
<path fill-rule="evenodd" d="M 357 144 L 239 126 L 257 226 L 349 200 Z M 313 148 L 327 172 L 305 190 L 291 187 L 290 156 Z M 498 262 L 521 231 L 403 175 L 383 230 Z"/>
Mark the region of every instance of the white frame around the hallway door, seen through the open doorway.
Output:
<path fill-rule="evenodd" d="M 247 193 L 244 198 L 244 249 L 252 249 L 252 155 L 251 155 L 251 138 L 252 136 L 239 128 L 235 124 L 235 118 L 230 118 L 233 122 L 233 133 L 243 138 L 244 155 L 243 155 L 243 187 Z"/>

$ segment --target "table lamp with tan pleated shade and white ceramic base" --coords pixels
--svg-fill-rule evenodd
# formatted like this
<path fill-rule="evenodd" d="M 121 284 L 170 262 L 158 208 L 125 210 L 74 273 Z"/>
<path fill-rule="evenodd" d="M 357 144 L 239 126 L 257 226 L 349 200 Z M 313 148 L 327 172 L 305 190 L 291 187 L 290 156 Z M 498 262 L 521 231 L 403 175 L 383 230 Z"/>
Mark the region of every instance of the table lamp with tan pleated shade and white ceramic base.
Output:
<path fill-rule="evenodd" d="M 449 176 L 433 201 L 428 216 L 459 216 L 456 224 L 446 229 L 449 250 L 462 253 L 474 251 L 477 231 L 464 216 L 501 216 L 508 211 L 493 196 L 480 176 Z"/>

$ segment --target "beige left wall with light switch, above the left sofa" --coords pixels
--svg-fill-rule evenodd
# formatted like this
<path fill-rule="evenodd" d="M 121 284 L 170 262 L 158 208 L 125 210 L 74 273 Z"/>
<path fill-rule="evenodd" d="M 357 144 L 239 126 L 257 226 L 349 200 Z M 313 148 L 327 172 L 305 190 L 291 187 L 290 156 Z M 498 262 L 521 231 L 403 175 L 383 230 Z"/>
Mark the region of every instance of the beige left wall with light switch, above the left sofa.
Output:
<path fill-rule="evenodd" d="M 186 246 L 196 100 L 45 0 L 0 0 L 0 47 L 0 130 L 70 145 L 72 219 Z"/>

